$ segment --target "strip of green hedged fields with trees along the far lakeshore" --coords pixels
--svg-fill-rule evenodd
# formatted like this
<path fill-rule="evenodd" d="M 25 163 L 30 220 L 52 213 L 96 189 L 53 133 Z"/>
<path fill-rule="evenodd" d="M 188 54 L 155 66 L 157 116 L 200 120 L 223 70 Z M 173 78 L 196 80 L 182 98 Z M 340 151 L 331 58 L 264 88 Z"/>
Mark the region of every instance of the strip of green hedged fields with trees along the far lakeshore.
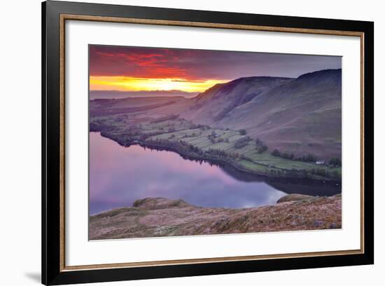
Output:
<path fill-rule="evenodd" d="M 237 168 L 249 172 L 280 175 L 281 172 L 296 171 L 300 172 L 302 177 L 341 178 L 341 168 L 272 156 L 272 150 L 269 149 L 258 154 L 255 139 L 246 139 L 248 135 L 241 135 L 239 130 L 196 125 L 181 118 L 154 122 L 153 118 L 139 117 L 135 114 L 92 117 L 90 123 L 108 126 L 108 133 L 114 138 L 134 137 L 141 143 L 145 143 L 146 140 L 162 139 L 167 142 L 186 142 L 202 151 L 210 149 L 225 151 L 227 154 L 236 156 Z M 244 146 L 237 147 L 237 140 L 242 138 L 246 143 Z"/>

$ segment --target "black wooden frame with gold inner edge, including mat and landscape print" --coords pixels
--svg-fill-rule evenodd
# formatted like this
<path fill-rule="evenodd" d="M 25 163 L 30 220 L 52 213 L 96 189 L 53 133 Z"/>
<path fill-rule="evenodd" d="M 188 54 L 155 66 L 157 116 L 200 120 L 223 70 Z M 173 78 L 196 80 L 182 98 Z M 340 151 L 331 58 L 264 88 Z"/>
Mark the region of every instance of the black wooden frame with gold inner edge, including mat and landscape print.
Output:
<path fill-rule="evenodd" d="M 373 22 L 42 19 L 43 284 L 373 264 Z"/>

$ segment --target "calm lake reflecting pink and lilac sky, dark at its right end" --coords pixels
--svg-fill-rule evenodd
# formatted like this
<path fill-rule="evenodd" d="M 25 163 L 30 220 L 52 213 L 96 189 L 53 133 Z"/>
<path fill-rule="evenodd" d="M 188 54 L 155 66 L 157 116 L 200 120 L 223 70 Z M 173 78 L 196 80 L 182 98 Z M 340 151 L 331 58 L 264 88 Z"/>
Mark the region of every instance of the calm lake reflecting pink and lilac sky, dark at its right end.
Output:
<path fill-rule="evenodd" d="M 122 147 L 99 132 L 90 132 L 90 214 L 132 206 L 147 197 L 239 208 L 272 205 L 286 193 L 330 196 L 340 191 L 334 182 L 269 179 L 190 161 L 172 151 Z"/>

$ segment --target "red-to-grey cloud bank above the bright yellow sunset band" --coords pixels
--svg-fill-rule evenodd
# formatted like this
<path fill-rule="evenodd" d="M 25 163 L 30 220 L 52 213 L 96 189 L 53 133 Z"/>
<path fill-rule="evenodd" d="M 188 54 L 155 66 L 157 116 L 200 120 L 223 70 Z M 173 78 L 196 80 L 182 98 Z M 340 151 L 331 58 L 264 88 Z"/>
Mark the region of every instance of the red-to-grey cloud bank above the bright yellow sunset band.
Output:
<path fill-rule="evenodd" d="M 321 55 L 253 53 L 182 48 L 90 45 L 91 76 L 173 78 L 188 81 L 242 76 L 296 77 L 341 68 L 341 58 Z"/>

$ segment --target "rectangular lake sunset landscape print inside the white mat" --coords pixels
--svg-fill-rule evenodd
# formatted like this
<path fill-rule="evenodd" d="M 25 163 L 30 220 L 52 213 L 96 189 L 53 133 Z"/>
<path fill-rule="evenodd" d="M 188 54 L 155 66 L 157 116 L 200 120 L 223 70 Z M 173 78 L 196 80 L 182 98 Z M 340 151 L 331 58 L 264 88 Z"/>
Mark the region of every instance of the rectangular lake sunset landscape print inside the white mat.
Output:
<path fill-rule="evenodd" d="M 342 57 L 89 45 L 89 239 L 342 228 Z"/>

